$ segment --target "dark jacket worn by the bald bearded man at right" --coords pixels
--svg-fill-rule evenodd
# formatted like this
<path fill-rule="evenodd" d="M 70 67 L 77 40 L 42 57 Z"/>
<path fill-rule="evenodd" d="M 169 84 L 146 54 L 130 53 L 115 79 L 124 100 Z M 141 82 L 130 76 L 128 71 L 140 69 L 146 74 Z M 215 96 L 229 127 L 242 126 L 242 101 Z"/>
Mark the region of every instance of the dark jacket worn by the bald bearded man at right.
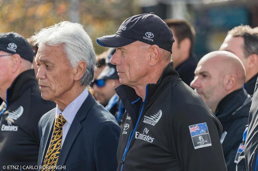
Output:
<path fill-rule="evenodd" d="M 216 117 L 223 127 L 222 149 L 228 171 L 235 171 L 238 156 L 243 151 L 243 133 L 248 123 L 251 96 L 239 89 L 224 97 L 216 110 Z"/>

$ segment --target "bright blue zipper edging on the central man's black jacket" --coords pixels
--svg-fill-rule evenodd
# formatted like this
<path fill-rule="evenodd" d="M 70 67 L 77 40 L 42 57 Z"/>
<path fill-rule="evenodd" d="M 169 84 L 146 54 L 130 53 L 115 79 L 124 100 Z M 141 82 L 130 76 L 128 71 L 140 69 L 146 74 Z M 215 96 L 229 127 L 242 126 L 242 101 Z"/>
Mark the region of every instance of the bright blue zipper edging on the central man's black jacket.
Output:
<path fill-rule="evenodd" d="M 137 122 L 136 122 L 136 125 L 135 125 L 134 129 L 132 129 L 132 131 L 131 131 L 131 133 L 130 133 L 130 135 L 129 135 L 129 138 L 128 138 L 128 141 L 127 141 L 127 145 L 126 145 L 126 147 L 125 147 L 124 154 L 123 154 L 122 160 L 121 160 L 121 162 L 120 162 L 120 164 L 122 164 L 120 171 L 122 171 L 122 169 L 123 169 L 126 153 L 127 153 L 127 151 L 128 151 L 128 148 L 130 147 L 130 144 L 131 144 L 131 142 L 132 142 L 134 133 L 135 133 L 136 128 L 137 128 L 137 126 L 138 126 L 138 124 L 139 124 L 139 121 L 140 121 L 140 119 L 141 119 L 142 111 L 143 111 L 143 108 L 144 108 L 144 105 L 145 105 L 145 102 L 146 102 L 146 99 L 147 99 L 147 93 L 148 93 L 148 88 L 147 88 L 147 85 L 146 85 L 146 93 L 145 93 L 145 99 L 144 99 L 144 102 L 143 102 L 143 105 L 142 105 L 142 109 L 141 109 L 140 115 L 139 115 L 139 117 L 138 117 L 138 120 L 137 120 Z M 139 98 L 138 98 L 138 99 L 139 99 Z"/>

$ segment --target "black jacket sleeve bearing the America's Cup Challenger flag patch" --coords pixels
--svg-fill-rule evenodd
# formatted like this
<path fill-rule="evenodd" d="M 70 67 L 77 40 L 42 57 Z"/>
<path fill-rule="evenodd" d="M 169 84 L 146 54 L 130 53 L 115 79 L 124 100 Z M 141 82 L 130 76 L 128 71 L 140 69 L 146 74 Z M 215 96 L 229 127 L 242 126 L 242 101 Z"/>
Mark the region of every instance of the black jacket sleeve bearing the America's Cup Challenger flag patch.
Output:
<path fill-rule="evenodd" d="M 208 108 L 179 106 L 171 117 L 173 148 L 186 171 L 227 170 L 220 143 L 222 126 Z"/>

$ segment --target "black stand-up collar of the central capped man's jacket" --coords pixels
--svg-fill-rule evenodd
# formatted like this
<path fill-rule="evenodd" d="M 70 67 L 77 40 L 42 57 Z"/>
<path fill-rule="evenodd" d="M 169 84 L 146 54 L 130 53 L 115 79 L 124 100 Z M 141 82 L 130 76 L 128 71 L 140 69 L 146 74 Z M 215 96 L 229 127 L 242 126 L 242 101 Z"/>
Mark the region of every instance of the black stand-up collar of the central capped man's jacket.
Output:
<path fill-rule="evenodd" d="M 170 62 L 164 69 L 157 83 L 146 85 L 146 89 L 148 89 L 148 91 L 146 91 L 147 94 L 144 111 L 147 111 L 149 109 L 152 103 L 159 96 L 160 92 L 162 92 L 169 83 L 176 80 L 180 80 L 180 78 L 178 73 L 173 69 L 173 62 Z M 130 114 L 133 125 L 135 126 L 139 109 L 137 108 L 137 106 L 134 105 L 134 102 L 137 101 L 137 99 L 139 99 L 140 97 L 135 93 L 135 90 L 133 88 L 123 84 L 116 87 L 115 91 L 122 100 L 124 108 Z"/>

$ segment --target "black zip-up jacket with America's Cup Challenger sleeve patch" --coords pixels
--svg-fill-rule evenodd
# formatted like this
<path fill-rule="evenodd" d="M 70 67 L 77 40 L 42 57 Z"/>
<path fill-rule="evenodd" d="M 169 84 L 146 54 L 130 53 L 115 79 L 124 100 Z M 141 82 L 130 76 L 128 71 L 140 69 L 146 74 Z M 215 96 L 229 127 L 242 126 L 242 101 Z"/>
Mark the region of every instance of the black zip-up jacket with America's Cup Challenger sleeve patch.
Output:
<path fill-rule="evenodd" d="M 126 112 L 118 171 L 225 171 L 222 126 L 203 99 L 179 78 L 172 62 L 144 102 L 131 87 L 115 88 Z"/>

